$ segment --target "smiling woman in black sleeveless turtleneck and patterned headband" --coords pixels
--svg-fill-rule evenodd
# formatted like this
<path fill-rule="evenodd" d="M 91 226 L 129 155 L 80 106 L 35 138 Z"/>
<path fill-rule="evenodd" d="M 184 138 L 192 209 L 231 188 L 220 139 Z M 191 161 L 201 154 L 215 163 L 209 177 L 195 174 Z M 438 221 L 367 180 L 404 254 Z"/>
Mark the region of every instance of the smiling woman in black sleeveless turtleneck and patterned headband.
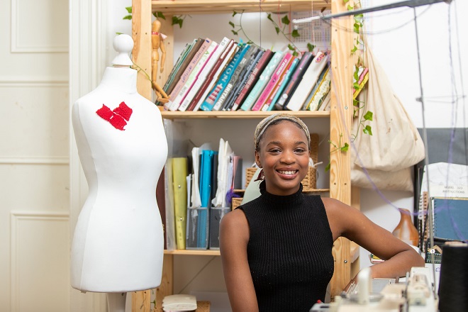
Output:
<path fill-rule="evenodd" d="M 285 113 L 264 118 L 254 142 L 261 195 L 224 216 L 220 229 L 233 311 L 309 311 L 325 301 L 340 236 L 386 260 L 372 267 L 372 277 L 401 277 L 424 265 L 411 246 L 355 208 L 303 194 L 310 137 L 301 119 Z"/>

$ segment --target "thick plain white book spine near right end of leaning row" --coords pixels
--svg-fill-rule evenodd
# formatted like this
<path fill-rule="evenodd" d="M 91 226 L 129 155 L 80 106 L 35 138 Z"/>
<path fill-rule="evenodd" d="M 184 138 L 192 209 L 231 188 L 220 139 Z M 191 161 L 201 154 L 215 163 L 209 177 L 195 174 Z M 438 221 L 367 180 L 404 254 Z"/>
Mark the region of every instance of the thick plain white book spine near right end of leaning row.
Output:
<path fill-rule="evenodd" d="M 306 72 L 304 72 L 301 82 L 299 82 L 296 90 L 291 96 L 286 109 L 289 111 L 301 110 L 304 102 L 313 85 L 316 84 L 323 68 L 327 65 L 328 57 L 325 52 L 318 52 L 316 57 L 313 58 L 310 65 L 308 65 Z"/>

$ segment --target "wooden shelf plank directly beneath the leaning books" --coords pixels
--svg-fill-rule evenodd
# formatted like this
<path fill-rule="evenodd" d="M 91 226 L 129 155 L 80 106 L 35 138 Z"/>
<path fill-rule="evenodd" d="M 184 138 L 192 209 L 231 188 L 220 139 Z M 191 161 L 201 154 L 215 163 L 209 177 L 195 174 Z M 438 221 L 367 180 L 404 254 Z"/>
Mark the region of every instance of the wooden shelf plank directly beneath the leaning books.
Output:
<path fill-rule="evenodd" d="M 166 119 L 184 118 L 265 118 L 282 111 L 161 111 Z M 328 118 L 330 111 L 284 111 L 299 118 Z"/>

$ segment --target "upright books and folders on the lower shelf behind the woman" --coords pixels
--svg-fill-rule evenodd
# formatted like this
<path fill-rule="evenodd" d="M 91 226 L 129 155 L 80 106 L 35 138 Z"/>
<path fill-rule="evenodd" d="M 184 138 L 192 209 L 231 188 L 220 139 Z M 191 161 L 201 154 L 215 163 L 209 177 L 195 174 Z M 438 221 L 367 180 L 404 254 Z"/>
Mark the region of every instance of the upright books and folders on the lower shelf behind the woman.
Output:
<path fill-rule="evenodd" d="M 241 188 L 242 162 L 222 139 L 219 151 L 194 147 L 188 157 L 169 158 L 157 192 L 166 249 L 219 249 L 219 223 L 229 194 Z"/>

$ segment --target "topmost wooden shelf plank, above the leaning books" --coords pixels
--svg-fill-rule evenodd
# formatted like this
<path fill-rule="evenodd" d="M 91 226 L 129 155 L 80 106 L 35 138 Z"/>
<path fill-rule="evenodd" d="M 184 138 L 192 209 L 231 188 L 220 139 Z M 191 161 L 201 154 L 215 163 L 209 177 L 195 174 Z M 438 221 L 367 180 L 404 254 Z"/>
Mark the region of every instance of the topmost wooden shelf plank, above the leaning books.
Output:
<path fill-rule="evenodd" d="M 329 0 L 262 0 L 219 1 L 219 0 L 152 0 L 152 11 L 167 14 L 232 13 L 233 11 L 286 13 L 294 11 L 316 11 L 330 9 Z"/>

